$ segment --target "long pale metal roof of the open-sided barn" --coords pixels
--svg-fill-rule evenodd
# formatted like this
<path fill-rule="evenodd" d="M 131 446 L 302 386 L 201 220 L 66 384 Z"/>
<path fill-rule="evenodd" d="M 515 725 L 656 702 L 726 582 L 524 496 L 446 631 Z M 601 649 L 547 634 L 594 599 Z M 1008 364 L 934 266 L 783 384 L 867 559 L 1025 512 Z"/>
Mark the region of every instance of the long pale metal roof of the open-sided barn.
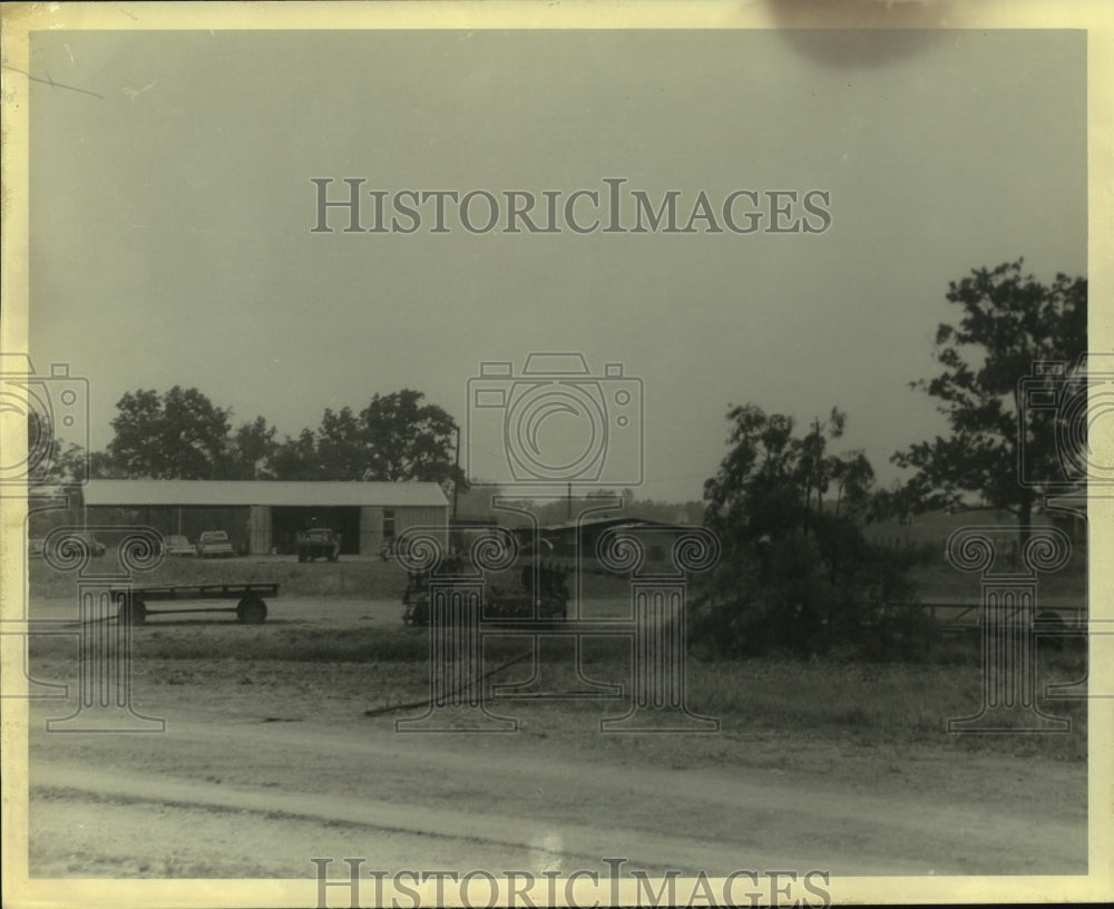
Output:
<path fill-rule="evenodd" d="M 381 506 L 444 507 L 432 482 L 343 482 L 299 480 L 89 480 L 88 506 Z"/>

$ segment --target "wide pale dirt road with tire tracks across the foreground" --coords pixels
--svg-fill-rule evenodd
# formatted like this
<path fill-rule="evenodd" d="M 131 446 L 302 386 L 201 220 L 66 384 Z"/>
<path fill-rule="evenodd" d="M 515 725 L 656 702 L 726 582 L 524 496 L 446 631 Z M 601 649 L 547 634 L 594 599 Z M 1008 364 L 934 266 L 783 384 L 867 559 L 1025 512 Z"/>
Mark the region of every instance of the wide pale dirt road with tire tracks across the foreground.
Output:
<path fill-rule="evenodd" d="M 183 696 L 165 734 L 32 729 L 32 874 L 305 878 L 315 857 L 495 873 L 603 870 L 605 857 L 720 876 L 1086 867 L 1078 766 L 907 755 L 879 774 L 867 762 L 886 755 L 838 746 L 828 773 L 792 759 L 770 766 L 779 750 L 824 750 L 786 736 L 721 741 L 730 760 L 709 766 L 685 760 L 709 747 L 695 739 L 397 734 L 356 703 L 338 723 L 336 705 L 314 719 L 244 697 L 229 717 Z"/>

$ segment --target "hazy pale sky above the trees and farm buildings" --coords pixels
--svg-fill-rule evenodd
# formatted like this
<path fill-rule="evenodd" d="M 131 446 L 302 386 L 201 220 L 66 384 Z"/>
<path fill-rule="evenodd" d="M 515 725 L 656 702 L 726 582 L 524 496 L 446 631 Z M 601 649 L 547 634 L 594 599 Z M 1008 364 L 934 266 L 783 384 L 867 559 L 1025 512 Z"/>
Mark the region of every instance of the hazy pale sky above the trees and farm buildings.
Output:
<path fill-rule="evenodd" d="M 579 352 L 609 448 L 563 475 L 588 430 L 558 408 L 549 476 L 700 498 L 752 402 L 839 405 L 886 483 L 944 429 L 908 385 L 934 374 L 948 282 L 1020 256 L 1086 274 L 1079 31 L 39 31 L 30 71 L 56 84 L 30 96 L 30 351 L 88 378 L 95 449 L 125 392 L 175 384 L 281 434 L 402 388 L 496 432 L 527 354 Z M 539 199 L 623 178 L 677 190 L 683 221 L 701 192 L 821 190 L 831 223 L 432 233 L 427 206 L 412 234 L 335 212 L 323 233 L 314 178 Z M 473 478 L 514 473 L 465 447 Z"/>

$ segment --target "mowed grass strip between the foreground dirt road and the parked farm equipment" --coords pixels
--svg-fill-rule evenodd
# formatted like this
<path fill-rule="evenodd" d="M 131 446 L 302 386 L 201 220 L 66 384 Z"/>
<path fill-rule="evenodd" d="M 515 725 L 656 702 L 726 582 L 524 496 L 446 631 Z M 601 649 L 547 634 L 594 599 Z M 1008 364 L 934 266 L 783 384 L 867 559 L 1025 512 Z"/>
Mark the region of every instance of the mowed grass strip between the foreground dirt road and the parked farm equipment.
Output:
<path fill-rule="evenodd" d="M 32 637 L 29 647 L 37 677 L 68 674 L 76 666 L 72 641 Z M 550 639 L 546 647 L 541 675 L 547 691 L 583 691 L 585 680 L 590 680 L 622 685 L 624 696 L 629 697 L 633 663 L 627 639 L 585 641 L 579 673 L 570 639 Z M 1045 685 L 1069 683 L 1085 675 L 1081 649 L 1042 652 L 1037 658 L 1037 705 L 1044 713 L 1071 720 L 1068 734 L 954 735 L 947 732 L 948 721 L 977 714 L 984 701 L 978 649 L 970 646 L 960 653 L 959 647 L 957 644 L 948 662 L 937 664 L 868 664 L 789 656 L 690 659 L 684 676 L 686 698 L 694 713 L 717 717 L 725 733 L 784 732 L 854 745 L 926 744 L 1086 760 L 1086 702 L 1043 697 Z M 488 639 L 483 645 L 483 673 L 488 676 L 485 686 L 529 678 L 531 657 L 528 638 Z M 133 665 L 145 680 L 187 685 L 199 692 L 212 690 L 222 696 L 228 693 L 229 683 L 233 690 L 244 692 L 240 686 L 264 681 L 275 692 L 284 687 L 329 691 L 333 701 L 344 701 L 348 691 L 355 716 L 365 708 L 419 701 L 428 695 L 429 632 L 382 627 L 339 631 L 307 623 L 147 625 L 135 629 Z M 585 711 L 597 710 L 614 715 L 616 704 L 516 702 L 519 713 L 546 712 L 547 722 L 567 714 L 570 725 L 574 720 L 580 723 Z M 1010 722 L 1023 722 L 1027 716 L 1019 712 Z"/>

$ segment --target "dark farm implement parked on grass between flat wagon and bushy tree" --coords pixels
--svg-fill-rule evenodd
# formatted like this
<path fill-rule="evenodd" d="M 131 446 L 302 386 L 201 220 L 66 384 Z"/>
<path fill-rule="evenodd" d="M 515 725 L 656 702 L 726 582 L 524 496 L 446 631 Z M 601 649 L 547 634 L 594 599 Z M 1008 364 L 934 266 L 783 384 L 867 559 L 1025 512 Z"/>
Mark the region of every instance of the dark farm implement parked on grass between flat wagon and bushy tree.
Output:
<path fill-rule="evenodd" d="M 451 563 L 444 575 L 459 574 L 459 563 Z M 516 587 L 486 586 L 482 604 L 485 618 L 564 619 L 568 614 L 567 568 L 549 565 L 526 565 L 520 569 Z M 537 584 L 535 584 L 537 575 Z M 429 625 L 430 581 L 428 571 L 410 571 L 402 594 L 402 624 Z"/>

